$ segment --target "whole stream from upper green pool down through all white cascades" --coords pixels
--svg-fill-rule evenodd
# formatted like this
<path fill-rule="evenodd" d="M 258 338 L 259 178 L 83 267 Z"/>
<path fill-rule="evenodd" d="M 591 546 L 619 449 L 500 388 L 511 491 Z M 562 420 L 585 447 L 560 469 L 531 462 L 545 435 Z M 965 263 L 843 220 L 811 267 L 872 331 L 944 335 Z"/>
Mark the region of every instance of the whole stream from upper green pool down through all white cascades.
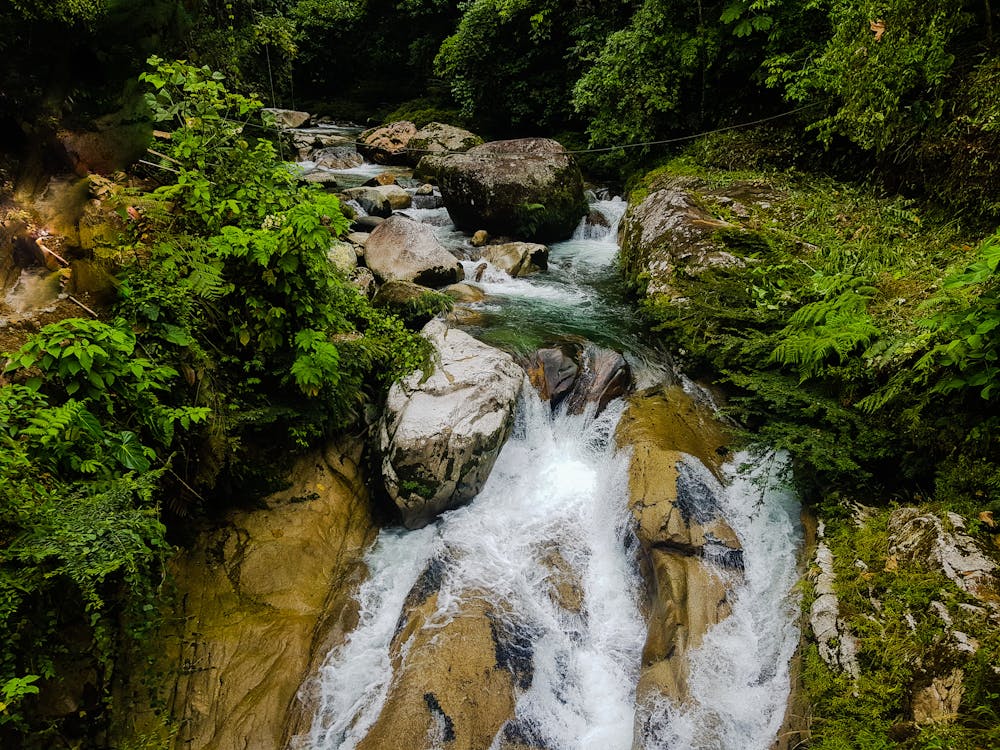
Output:
<path fill-rule="evenodd" d="M 626 205 L 592 196 L 591 208 L 609 226 L 581 223 L 572 239 L 551 247 L 547 272 L 512 279 L 487 266 L 472 282 L 479 262 L 464 261 L 467 281 L 487 296 L 466 306 L 462 327 L 521 355 L 553 341 L 593 341 L 625 354 L 638 387 L 655 385 L 669 368 L 642 340 L 614 265 Z M 434 226 L 446 247 L 469 257 L 468 238 L 445 209 L 402 213 Z M 308 686 L 317 711 L 301 746 L 350 750 L 363 742 L 390 694 L 392 642 L 408 595 L 430 575 L 436 609 L 423 628 L 443 628 L 483 599 L 518 644 L 513 718 L 491 750 L 771 747 L 798 641 L 799 507 L 780 480 L 784 459 L 736 455 L 724 483 L 692 467 L 743 545 L 743 575 L 720 569 L 730 581 L 732 615 L 690 653 L 689 699 L 637 708 L 647 624 L 628 510 L 630 454 L 614 439 L 624 410 L 616 400 L 596 416 L 553 413 L 525 387 L 512 435 L 475 500 L 417 531 L 381 531 L 356 595 L 358 625 Z M 568 573 L 556 575 L 553 555 Z M 572 604 L 555 593 L 560 585 L 572 590 Z M 449 727 L 432 730 L 425 746 L 446 747 Z"/>

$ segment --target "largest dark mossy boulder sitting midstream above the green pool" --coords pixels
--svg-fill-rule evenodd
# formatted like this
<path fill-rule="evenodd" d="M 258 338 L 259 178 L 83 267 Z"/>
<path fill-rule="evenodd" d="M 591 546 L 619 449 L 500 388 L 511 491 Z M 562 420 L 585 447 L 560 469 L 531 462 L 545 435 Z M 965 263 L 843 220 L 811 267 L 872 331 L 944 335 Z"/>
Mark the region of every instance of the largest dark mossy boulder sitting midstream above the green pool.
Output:
<path fill-rule="evenodd" d="M 556 141 L 494 141 L 425 157 L 418 170 L 429 158 L 459 229 L 548 242 L 570 237 L 587 212 L 580 170 Z"/>

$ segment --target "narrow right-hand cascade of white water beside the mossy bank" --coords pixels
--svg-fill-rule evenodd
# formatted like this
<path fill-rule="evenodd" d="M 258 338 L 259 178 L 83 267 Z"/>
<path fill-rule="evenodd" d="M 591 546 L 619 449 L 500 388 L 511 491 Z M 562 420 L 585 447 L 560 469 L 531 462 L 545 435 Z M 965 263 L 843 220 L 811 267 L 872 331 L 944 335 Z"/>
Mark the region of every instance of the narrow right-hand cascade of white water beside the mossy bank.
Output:
<path fill-rule="evenodd" d="M 743 545 L 743 581 L 730 594 L 732 615 L 690 654 L 690 702 L 640 709 L 650 750 L 768 748 L 784 719 L 798 643 L 799 504 L 782 478 L 783 456 L 741 453 L 727 468 L 717 497 Z"/>

